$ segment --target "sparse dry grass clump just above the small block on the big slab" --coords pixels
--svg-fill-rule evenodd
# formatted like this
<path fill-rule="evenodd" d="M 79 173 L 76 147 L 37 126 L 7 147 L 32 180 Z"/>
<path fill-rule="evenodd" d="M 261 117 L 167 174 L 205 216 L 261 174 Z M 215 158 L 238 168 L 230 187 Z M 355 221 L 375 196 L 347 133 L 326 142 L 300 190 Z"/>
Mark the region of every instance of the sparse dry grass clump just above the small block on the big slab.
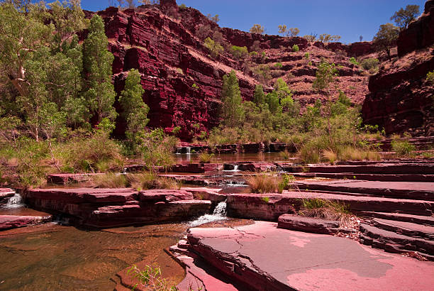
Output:
<path fill-rule="evenodd" d="M 303 199 L 298 214 L 321 219 L 342 220 L 350 212 L 347 205 L 343 203 L 313 198 Z"/>

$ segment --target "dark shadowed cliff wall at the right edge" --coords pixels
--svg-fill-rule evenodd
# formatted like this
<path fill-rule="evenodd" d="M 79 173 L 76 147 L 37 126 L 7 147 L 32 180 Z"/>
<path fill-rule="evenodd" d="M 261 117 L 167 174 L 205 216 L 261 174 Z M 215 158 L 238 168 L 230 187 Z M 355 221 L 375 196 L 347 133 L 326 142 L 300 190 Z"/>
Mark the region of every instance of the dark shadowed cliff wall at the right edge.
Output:
<path fill-rule="evenodd" d="M 362 107 L 365 123 L 378 124 L 386 133 L 434 135 L 434 0 L 423 15 L 401 31 L 399 58 L 385 62 L 369 79 L 369 94 Z"/>

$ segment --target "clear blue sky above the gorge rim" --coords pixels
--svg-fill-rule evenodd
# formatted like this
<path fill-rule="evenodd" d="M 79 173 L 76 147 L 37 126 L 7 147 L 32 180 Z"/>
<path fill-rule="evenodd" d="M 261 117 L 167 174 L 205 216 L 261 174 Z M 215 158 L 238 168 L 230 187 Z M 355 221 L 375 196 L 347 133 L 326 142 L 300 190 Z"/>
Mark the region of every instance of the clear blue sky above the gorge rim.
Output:
<path fill-rule="evenodd" d="M 116 1 L 114 1 L 116 3 Z M 83 9 L 97 11 L 109 6 L 109 0 L 82 0 Z M 341 35 L 343 43 L 372 40 L 380 24 L 408 4 L 423 6 L 425 0 L 177 0 L 205 15 L 218 14 L 222 27 L 248 31 L 253 24 L 277 34 L 277 26 L 300 29 L 300 35 L 329 33 Z"/>

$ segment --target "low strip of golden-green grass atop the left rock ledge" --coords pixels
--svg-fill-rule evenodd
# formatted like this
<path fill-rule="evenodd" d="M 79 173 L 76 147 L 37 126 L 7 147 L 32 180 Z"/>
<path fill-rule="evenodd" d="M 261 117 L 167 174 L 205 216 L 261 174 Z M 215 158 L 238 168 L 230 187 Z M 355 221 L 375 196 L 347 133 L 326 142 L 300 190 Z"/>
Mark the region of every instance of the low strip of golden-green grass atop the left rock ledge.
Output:
<path fill-rule="evenodd" d="M 169 177 L 160 177 L 155 172 L 142 172 L 138 174 L 106 173 L 92 177 L 96 187 L 125 188 L 135 190 L 172 189 L 179 190 L 178 183 Z"/>

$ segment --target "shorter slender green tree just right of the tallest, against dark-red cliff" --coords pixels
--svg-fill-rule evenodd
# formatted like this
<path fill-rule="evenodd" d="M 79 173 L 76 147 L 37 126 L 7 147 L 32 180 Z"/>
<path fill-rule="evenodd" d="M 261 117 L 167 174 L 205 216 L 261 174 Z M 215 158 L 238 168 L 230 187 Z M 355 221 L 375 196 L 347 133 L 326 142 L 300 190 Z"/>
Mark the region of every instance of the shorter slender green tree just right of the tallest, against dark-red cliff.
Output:
<path fill-rule="evenodd" d="M 145 90 L 140 84 L 140 72 L 130 70 L 126 77 L 125 87 L 119 97 L 119 103 L 123 109 L 123 117 L 127 121 L 127 138 L 135 143 L 136 136 L 145 131 L 148 124 L 149 107 L 143 101 Z"/>

